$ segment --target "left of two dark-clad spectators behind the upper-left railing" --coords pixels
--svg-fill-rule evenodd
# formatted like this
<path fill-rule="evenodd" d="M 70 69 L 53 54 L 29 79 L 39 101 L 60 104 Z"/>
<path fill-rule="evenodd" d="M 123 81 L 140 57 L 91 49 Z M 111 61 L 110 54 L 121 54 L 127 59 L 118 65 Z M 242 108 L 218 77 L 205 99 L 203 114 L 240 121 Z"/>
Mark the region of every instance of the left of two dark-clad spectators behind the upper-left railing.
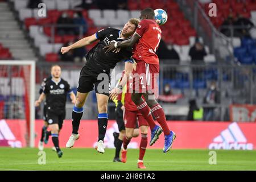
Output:
<path fill-rule="evenodd" d="M 63 12 L 60 18 L 57 20 L 58 25 L 63 25 L 64 27 L 57 27 L 57 34 L 59 35 L 73 35 L 73 27 L 65 27 L 65 25 L 73 25 L 73 19 L 69 16 L 67 12 Z"/>

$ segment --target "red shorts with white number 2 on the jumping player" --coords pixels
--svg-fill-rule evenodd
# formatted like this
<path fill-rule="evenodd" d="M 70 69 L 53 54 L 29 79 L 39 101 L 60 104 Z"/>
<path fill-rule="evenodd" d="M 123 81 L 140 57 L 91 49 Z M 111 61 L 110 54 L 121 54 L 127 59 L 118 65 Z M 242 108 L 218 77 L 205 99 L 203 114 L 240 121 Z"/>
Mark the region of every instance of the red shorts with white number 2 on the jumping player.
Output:
<path fill-rule="evenodd" d="M 137 61 L 136 71 L 133 75 L 134 93 L 158 94 L 159 65 Z"/>

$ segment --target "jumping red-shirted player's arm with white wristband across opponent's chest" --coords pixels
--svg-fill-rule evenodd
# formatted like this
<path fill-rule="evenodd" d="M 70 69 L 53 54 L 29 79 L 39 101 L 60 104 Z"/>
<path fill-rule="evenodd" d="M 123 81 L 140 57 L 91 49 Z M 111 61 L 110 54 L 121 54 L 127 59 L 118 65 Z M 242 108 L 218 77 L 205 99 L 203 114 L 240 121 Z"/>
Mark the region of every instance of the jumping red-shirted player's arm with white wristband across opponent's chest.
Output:
<path fill-rule="evenodd" d="M 138 34 L 133 34 L 130 39 L 124 40 L 122 42 L 112 42 L 105 46 L 103 49 L 106 49 L 106 52 L 114 51 L 116 48 L 126 48 L 133 47 L 135 43 L 139 41 L 141 37 Z"/>

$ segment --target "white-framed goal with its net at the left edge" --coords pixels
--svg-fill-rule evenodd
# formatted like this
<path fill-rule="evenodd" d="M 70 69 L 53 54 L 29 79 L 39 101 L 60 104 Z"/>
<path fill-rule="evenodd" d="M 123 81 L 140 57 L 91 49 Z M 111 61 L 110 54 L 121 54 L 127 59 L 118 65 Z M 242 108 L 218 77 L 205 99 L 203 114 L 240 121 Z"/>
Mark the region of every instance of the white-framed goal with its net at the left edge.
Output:
<path fill-rule="evenodd" d="M 34 147 L 35 61 L 0 61 L 0 146 Z"/>

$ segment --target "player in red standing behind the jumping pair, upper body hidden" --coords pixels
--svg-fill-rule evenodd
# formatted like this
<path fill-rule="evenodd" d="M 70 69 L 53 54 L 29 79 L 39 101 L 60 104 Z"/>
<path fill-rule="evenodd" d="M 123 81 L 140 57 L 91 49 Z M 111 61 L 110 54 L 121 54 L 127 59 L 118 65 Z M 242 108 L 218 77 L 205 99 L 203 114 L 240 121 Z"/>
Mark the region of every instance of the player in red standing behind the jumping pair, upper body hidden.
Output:
<path fill-rule="evenodd" d="M 134 63 L 134 71 L 135 69 L 136 63 Z M 122 81 L 122 78 L 120 81 Z M 139 144 L 139 159 L 137 166 L 138 168 L 145 169 L 146 167 L 144 166 L 143 158 L 147 148 L 148 123 L 137 109 L 137 106 L 131 100 L 131 93 L 129 92 L 129 90 L 133 89 L 133 85 L 130 84 L 132 81 L 133 78 L 131 78 L 131 81 L 127 82 L 126 90 L 123 90 L 123 92 L 125 92 L 125 109 L 123 110 L 123 120 L 125 121 L 125 137 L 123 138 L 121 161 L 123 163 L 126 163 L 127 146 L 130 143 L 131 138 L 133 138 L 134 129 L 138 119 L 139 129 L 141 130 L 141 143 Z M 120 99 L 120 94 L 118 95 L 118 98 Z"/>

